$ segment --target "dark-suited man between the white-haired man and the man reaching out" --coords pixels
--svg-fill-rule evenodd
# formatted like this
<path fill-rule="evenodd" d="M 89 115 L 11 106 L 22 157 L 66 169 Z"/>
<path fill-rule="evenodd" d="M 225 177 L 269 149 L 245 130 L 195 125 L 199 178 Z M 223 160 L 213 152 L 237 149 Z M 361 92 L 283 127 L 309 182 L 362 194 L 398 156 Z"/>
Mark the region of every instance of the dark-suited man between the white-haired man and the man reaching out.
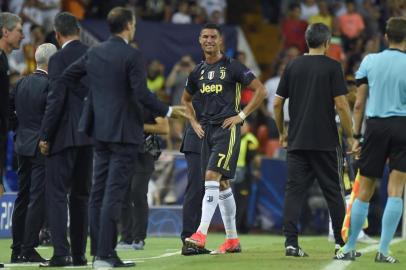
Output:
<path fill-rule="evenodd" d="M 72 14 L 59 13 L 54 28 L 62 49 L 49 61 L 50 92 L 41 132 L 41 140 L 49 145 L 46 194 L 54 254 L 43 266 L 86 265 L 93 149 L 90 138 L 77 129 L 89 89 L 86 78 L 68 89 L 58 88 L 55 82 L 87 46 L 79 41 L 79 24 Z M 67 240 L 68 205 L 71 247 Z"/>

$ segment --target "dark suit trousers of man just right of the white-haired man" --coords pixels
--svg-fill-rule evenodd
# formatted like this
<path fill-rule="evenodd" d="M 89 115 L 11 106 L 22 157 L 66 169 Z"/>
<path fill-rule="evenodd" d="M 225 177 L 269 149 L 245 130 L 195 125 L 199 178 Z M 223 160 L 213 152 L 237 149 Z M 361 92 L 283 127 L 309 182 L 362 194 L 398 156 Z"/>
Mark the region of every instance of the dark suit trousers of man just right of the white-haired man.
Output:
<path fill-rule="evenodd" d="M 46 159 L 48 223 L 54 256 L 82 256 L 88 235 L 93 148 L 70 147 Z M 68 205 L 70 244 L 67 238 Z"/>

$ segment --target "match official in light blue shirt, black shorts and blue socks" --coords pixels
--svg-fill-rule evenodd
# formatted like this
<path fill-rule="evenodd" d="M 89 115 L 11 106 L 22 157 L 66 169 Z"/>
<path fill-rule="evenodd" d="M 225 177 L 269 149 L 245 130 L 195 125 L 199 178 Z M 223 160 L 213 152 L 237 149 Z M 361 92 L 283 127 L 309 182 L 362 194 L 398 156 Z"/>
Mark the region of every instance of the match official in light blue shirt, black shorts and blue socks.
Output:
<path fill-rule="evenodd" d="M 358 85 L 354 109 L 354 137 L 361 138 L 362 120 L 366 115 L 365 140 L 353 145 L 360 156 L 360 190 L 351 211 L 350 236 L 334 257 L 354 260 L 358 233 L 368 215 L 369 201 L 376 180 L 382 178 L 389 158 L 388 201 L 382 218 L 382 232 L 375 262 L 397 263 L 389 255 L 392 240 L 403 211 L 403 189 L 406 183 L 406 19 L 390 18 L 386 23 L 389 48 L 367 55 L 356 73 Z"/>

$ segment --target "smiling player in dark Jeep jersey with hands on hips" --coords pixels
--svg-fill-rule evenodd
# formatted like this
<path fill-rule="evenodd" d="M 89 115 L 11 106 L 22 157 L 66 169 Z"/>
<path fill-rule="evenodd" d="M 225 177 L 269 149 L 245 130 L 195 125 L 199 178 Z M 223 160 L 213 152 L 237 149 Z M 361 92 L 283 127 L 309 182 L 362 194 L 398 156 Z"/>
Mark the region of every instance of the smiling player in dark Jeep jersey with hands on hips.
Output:
<path fill-rule="evenodd" d="M 219 205 L 226 230 L 226 241 L 214 254 L 240 252 L 235 225 L 235 201 L 229 179 L 234 178 L 240 149 L 240 124 L 260 106 L 266 96 L 265 87 L 240 62 L 225 57 L 221 51 L 220 28 L 205 25 L 199 37 L 205 61 L 189 75 L 182 102 L 191 117 L 196 134 L 203 138 L 201 151 L 205 177 L 202 217 L 196 233 L 185 239 L 191 246 L 203 248 L 214 211 Z M 244 110 L 240 110 L 242 87 L 248 86 L 255 95 Z M 192 105 L 192 96 L 202 96 L 199 122 Z"/>

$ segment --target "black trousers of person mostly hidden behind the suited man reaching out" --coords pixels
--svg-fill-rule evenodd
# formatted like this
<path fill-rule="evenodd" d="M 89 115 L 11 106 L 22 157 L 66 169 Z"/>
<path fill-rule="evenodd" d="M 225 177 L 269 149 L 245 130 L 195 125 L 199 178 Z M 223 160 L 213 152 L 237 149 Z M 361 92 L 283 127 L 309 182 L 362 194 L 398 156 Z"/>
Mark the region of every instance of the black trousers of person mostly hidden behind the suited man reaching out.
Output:
<path fill-rule="evenodd" d="M 138 153 L 135 172 L 129 183 L 121 213 L 121 241 L 131 244 L 144 241 L 148 229 L 148 183 L 154 172 L 154 158 Z"/>

